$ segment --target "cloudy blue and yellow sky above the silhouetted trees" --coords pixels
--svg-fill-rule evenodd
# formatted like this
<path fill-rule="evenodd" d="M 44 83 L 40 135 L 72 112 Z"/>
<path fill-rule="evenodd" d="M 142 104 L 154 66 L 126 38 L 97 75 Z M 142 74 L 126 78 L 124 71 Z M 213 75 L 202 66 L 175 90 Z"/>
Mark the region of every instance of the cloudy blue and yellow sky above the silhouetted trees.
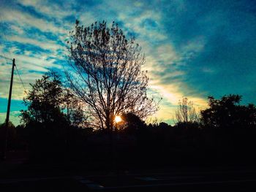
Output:
<path fill-rule="evenodd" d="M 49 69 L 67 64 L 75 20 L 83 26 L 114 20 L 146 55 L 148 93 L 161 96 L 152 118 L 172 123 L 183 96 L 196 109 L 207 96 L 240 94 L 256 103 L 256 1 L 0 0 L 0 55 L 15 58 L 26 90 Z M 0 58 L 0 123 L 7 111 L 12 61 Z M 25 96 L 14 75 L 10 120 L 20 123 Z"/>

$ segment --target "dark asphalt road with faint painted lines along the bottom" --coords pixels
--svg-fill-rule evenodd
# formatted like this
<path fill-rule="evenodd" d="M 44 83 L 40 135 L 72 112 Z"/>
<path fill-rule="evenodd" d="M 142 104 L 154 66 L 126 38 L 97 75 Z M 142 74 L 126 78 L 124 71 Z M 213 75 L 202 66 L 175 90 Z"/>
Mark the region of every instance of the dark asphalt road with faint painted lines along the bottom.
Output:
<path fill-rule="evenodd" d="M 1 177 L 0 191 L 256 191 L 256 169 L 248 167 L 116 173 L 18 174 Z"/>

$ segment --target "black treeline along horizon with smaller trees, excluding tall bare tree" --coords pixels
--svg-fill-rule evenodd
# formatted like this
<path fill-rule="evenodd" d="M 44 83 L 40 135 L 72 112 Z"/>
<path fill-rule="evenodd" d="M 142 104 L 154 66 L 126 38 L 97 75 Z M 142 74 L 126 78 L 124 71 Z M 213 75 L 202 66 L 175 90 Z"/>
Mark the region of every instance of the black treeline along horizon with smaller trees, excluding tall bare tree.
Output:
<path fill-rule="evenodd" d="M 176 125 L 146 124 L 121 115 L 109 132 L 89 126 L 79 102 L 68 95 L 58 74 L 45 74 L 24 99 L 23 125 L 9 124 L 8 150 L 27 150 L 32 162 L 80 162 L 91 169 L 161 165 L 254 164 L 256 107 L 241 96 L 208 97 L 199 113 L 184 98 Z M 4 139 L 4 124 L 0 126 Z"/>

